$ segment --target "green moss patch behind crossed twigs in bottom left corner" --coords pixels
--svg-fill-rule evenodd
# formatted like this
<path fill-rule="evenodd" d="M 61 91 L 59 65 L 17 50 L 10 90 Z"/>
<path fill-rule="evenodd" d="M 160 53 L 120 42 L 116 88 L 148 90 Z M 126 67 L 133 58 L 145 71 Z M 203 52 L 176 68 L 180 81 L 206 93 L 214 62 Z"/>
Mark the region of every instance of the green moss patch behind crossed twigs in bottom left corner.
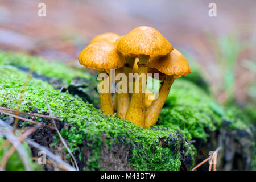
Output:
<path fill-rule="evenodd" d="M 6 142 L 6 140 L 3 137 L 0 137 L 0 162 L 3 159 L 3 156 L 6 154 L 5 149 L 10 149 L 11 144 L 9 144 L 6 147 L 3 147 L 3 144 Z M 26 143 L 23 143 L 23 146 L 27 149 L 28 155 L 30 155 L 30 148 L 28 147 L 28 145 Z M 29 161 L 30 166 L 32 167 L 32 169 L 34 170 L 42 170 L 42 168 L 35 164 L 34 162 L 32 162 L 32 159 L 30 159 Z M 8 162 L 6 163 L 5 166 L 5 170 L 6 171 L 23 171 L 24 170 L 24 166 L 18 156 L 18 154 L 16 153 L 16 151 L 13 153 L 13 155 L 10 156 Z"/>

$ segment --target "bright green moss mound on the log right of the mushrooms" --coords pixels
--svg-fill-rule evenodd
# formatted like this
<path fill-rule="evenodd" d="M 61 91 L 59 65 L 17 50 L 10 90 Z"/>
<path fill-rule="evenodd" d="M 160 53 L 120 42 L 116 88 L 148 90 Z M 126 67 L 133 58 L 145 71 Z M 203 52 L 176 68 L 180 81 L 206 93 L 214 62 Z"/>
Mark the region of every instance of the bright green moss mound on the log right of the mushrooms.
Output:
<path fill-rule="evenodd" d="M 228 121 L 230 130 L 250 127 L 250 118 L 238 107 L 221 106 L 195 84 L 177 79 L 160 113 L 158 126 L 175 128 L 188 139 L 206 140 L 205 128 L 214 131 L 224 121 Z"/>

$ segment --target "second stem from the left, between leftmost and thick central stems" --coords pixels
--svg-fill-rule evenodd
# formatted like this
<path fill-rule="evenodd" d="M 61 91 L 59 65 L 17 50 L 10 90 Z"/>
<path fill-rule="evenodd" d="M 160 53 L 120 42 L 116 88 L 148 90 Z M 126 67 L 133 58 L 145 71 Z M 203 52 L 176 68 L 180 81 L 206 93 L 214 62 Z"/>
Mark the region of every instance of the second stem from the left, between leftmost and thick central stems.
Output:
<path fill-rule="evenodd" d="M 130 72 L 129 67 L 122 67 L 122 72 L 125 73 L 126 75 L 126 92 L 125 93 L 118 93 L 117 94 L 117 117 L 122 117 L 125 118 L 127 109 L 129 107 L 129 90 L 128 90 L 128 85 L 129 85 L 129 79 L 128 79 L 128 73 Z M 122 85 L 123 86 L 123 85 Z"/>

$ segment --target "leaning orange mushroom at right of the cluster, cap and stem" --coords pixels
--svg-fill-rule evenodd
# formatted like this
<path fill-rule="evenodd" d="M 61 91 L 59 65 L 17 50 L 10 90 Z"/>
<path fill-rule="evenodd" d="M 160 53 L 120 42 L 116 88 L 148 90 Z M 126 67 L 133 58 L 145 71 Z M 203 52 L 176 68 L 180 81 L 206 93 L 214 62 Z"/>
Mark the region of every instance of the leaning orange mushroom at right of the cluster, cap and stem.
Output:
<path fill-rule="evenodd" d="M 166 102 L 166 98 L 175 78 L 191 73 L 187 60 L 177 49 L 172 50 L 165 56 L 151 56 L 149 67 L 158 69 L 158 71 L 164 73 L 166 77 L 159 89 L 158 98 L 152 102 L 151 106 L 146 111 L 146 128 L 155 125 L 158 121 L 160 111 L 162 110 L 164 102 Z"/>

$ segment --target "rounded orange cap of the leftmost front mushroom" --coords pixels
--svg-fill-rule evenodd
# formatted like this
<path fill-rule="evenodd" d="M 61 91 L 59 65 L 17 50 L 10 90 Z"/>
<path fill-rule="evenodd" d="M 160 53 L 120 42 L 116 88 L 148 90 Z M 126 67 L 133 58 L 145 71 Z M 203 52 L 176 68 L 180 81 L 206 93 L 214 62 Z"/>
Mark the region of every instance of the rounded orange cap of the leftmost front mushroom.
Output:
<path fill-rule="evenodd" d="M 86 68 L 110 70 L 123 67 L 125 57 L 117 48 L 107 42 L 89 44 L 79 55 L 79 63 Z"/>

